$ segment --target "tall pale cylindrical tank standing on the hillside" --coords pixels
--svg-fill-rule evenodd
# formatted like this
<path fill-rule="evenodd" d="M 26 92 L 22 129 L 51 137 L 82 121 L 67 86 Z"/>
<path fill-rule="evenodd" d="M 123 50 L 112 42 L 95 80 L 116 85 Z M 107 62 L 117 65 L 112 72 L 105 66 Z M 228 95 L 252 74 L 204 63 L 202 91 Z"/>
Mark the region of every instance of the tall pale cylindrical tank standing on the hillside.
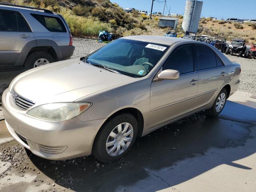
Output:
<path fill-rule="evenodd" d="M 202 11 L 203 2 L 197 0 L 186 1 L 182 29 L 185 32 L 196 33 Z"/>

